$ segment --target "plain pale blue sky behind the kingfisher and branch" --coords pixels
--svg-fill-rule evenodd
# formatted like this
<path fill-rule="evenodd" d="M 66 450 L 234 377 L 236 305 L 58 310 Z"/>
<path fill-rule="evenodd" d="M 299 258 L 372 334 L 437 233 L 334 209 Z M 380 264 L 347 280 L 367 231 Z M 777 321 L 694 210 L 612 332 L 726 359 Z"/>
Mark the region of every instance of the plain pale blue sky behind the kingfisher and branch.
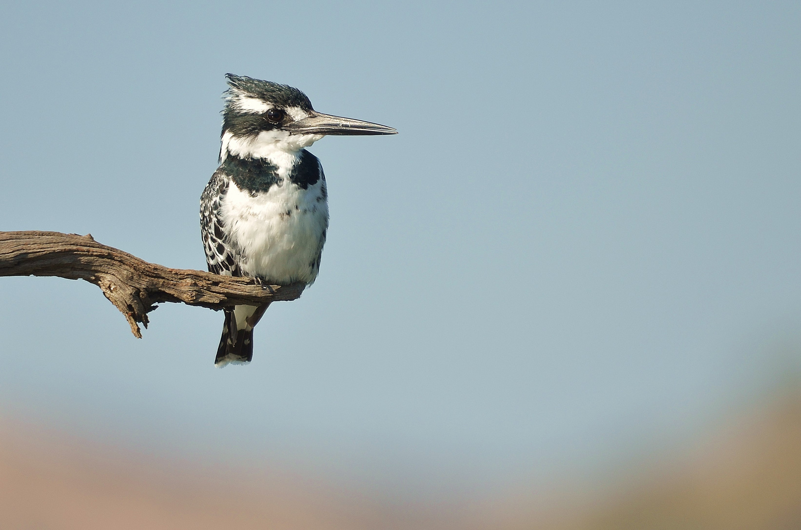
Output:
<path fill-rule="evenodd" d="M 223 74 L 323 139 L 331 230 L 254 362 L 167 304 L 0 279 L 0 410 L 170 454 L 486 488 L 673 444 L 801 325 L 798 2 L 0 6 L 0 229 L 204 268 Z M 778 359 L 778 360 L 777 360 Z M 645 449 L 644 449 L 645 448 Z"/>

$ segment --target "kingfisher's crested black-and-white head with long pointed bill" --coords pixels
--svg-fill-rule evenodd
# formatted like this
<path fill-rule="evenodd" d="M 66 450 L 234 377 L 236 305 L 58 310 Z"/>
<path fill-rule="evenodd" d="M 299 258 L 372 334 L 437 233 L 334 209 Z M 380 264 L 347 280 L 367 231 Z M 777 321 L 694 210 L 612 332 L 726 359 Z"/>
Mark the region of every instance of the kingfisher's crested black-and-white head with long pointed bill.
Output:
<path fill-rule="evenodd" d="M 234 74 L 225 77 L 223 160 L 228 154 L 249 159 L 276 151 L 293 153 L 325 135 L 397 134 L 378 123 L 321 114 L 306 94 L 292 86 Z"/>

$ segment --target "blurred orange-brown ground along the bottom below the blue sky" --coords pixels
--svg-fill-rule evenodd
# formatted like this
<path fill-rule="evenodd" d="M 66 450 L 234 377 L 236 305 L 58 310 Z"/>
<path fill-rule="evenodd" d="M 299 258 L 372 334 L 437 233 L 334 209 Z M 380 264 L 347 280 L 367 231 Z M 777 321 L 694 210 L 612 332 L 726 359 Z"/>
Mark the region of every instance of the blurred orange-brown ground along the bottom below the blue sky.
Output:
<path fill-rule="evenodd" d="M 801 528 L 801 397 L 768 400 L 683 456 L 637 468 L 596 487 L 562 486 L 545 495 L 547 506 L 548 488 L 409 504 L 287 473 L 135 455 L 6 420 L 0 528 L 791 530 Z"/>

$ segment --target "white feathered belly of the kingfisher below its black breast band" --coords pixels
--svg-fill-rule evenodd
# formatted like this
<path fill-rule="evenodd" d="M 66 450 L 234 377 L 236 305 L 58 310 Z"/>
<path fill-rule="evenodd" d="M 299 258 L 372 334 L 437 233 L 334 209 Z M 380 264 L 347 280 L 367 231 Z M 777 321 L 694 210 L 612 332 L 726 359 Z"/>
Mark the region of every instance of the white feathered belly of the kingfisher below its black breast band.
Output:
<path fill-rule="evenodd" d="M 239 269 L 278 284 L 312 283 L 328 227 L 320 179 L 307 189 L 284 180 L 252 196 L 232 185 L 221 203 Z"/>

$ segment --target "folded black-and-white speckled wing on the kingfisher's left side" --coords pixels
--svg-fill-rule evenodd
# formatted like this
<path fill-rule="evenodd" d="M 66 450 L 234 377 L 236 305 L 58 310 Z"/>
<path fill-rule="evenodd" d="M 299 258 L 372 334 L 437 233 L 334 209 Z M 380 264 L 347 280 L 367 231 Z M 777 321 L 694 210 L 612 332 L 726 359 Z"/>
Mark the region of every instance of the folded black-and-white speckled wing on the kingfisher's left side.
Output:
<path fill-rule="evenodd" d="M 231 177 L 222 168 L 211 175 L 203 195 L 200 195 L 200 231 L 209 272 L 242 276 L 236 259 L 236 248 L 227 236 L 219 205 L 228 191 Z"/>

